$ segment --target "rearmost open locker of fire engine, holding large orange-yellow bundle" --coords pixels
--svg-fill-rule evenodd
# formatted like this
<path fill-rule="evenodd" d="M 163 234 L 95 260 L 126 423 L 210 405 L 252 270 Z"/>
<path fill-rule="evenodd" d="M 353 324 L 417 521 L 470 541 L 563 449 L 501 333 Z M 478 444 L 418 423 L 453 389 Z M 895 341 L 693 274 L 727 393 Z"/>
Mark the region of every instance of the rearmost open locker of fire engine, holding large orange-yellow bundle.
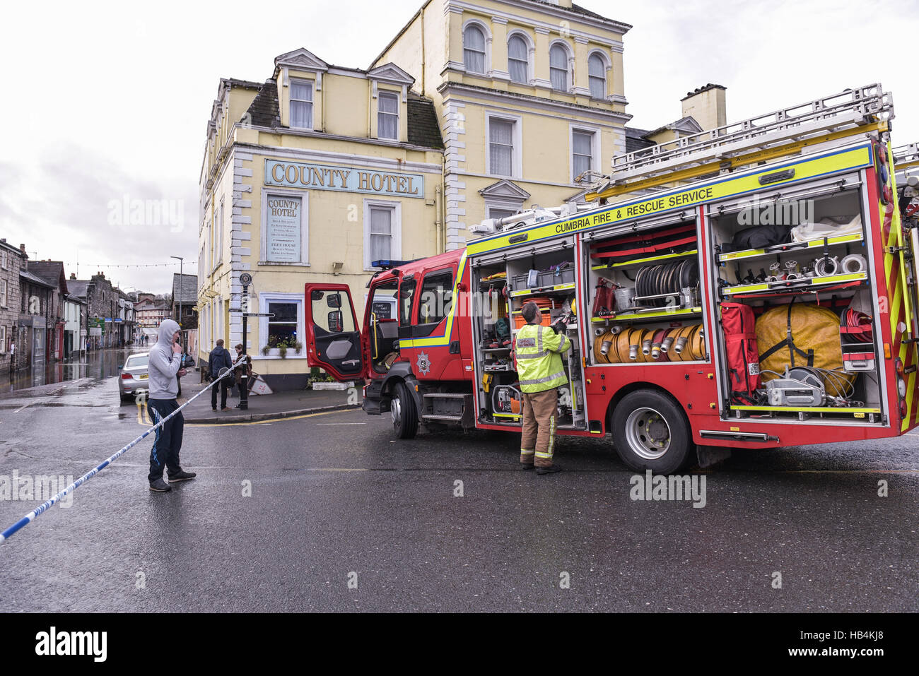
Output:
<path fill-rule="evenodd" d="M 722 383 L 726 416 L 883 421 L 868 238 L 850 183 L 812 198 L 801 188 L 794 201 L 754 196 L 711 217 L 722 372 L 752 369 Z M 726 314 L 738 306 L 755 321 L 755 366 L 749 327 L 738 343 Z"/>

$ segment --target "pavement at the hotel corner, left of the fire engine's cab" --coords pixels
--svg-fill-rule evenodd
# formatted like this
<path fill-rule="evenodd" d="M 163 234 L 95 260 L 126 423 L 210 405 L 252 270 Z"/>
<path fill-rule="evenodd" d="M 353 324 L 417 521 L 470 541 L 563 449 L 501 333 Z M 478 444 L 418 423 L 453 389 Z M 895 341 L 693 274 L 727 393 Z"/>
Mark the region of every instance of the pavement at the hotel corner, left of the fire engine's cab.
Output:
<path fill-rule="evenodd" d="M 182 397 L 180 404 L 191 400 L 207 383 L 194 383 L 191 380 L 199 377 L 198 373 L 182 378 Z M 322 411 L 340 411 L 360 408 L 360 390 L 319 390 L 296 389 L 279 391 L 273 394 L 249 394 L 248 409 L 236 408 L 239 403 L 239 389 L 230 389 L 227 397 L 229 411 L 221 411 L 221 394 L 217 393 L 217 411 L 210 408 L 210 393 L 205 392 L 192 401 L 182 411 L 186 423 L 247 423 L 252 421 L 287 418 L 292 415 L 306 415 Z"/>

